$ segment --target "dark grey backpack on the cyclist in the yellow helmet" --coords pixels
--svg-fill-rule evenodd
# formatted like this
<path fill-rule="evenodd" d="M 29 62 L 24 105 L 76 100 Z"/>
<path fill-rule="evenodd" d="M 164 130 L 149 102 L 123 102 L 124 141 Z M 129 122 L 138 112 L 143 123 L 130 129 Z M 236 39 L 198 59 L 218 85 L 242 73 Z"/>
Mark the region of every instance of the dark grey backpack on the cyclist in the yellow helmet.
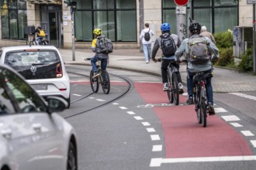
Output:
<path fill-rule="evenodd" d="M 112 53 L 113 45 L 110 39 L 106 37 L 100 37 L 97 39 L 97 46 L 99 47 L 99 53 Z"/>

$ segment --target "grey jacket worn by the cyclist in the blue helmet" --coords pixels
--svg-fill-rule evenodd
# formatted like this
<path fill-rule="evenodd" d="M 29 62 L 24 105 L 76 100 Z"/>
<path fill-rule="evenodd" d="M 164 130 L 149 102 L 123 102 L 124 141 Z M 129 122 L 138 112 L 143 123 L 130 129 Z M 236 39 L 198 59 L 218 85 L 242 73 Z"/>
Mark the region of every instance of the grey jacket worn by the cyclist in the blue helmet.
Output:
<path fill-rule="evenodd" d="M 162 35 L 168 35 L 170 34 L 169 32 L 165 32 Z M 178 39 L 178 36 L 176 34 L 171 34 L 171 38 L 175 41 L 175 44 L 177 47 L 179 47 L 181 45 L 181 40 Z M 156 54 L 157 54 L 157 50 L 161 48 L 161 36 L 157 37 L 156 41 L 154 42 L 154 47 L 152 49 L 152 59 L 155 58 Z M 174 56 L 163 56 L 163 59 L 175 59 L 175 55 Z"/>

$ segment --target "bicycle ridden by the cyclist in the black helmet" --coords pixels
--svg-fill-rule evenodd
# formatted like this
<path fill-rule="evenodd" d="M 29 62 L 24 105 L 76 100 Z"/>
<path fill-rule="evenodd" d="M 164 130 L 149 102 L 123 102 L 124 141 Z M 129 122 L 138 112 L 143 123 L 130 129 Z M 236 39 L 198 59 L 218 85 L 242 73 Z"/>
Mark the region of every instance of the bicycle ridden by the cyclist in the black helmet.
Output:
<path fill-rule="evenodd" d="M 207 91 L 206 91 L 206 78 L 212 77 L 212 73 L 199 72 L 193 76 L 193 97 L 195 101 L 195 112 L 199 124 L 206 127 L 206 117 L 209 113 Z"/>

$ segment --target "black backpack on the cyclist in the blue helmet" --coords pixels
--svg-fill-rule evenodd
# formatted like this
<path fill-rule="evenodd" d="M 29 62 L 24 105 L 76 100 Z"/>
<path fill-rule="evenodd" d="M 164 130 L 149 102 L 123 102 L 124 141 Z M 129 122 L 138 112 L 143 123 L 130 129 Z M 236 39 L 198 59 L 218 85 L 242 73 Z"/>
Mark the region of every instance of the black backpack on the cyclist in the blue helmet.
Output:
<path fill-rule="evenodd" d="M 175 45 L 175 40 L 171 38 L 171 35 L 168 36 L 161 35 L 161 49 L 164 56 L 174 56 L 177 50 Z"/>

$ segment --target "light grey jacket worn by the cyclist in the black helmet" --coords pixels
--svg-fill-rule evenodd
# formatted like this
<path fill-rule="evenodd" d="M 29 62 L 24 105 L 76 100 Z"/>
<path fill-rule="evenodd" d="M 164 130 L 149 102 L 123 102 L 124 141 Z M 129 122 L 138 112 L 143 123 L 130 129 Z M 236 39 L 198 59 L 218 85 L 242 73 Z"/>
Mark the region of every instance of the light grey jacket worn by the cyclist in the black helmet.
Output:
<path fill-rule="evenodd" d="M 188 41 L 189 39 L 183 40 L 182 45 L 175 52 L 176 57 L 181 57 L 184 52 L 186 54 L 189 54 Z M 214 54 L 214 56 L 219 57 L 219 49 L 215 46 L 212 40 L 206 37 L 206 42 L 209 42 L 209 50 Z M 188 55 L 186 55 L 186 58 L 188 58 Z M 206 70 L 212 69 L 212 63 L 210 60 L 205 64 L 192 64 L 191 62 L 188 62 L 188 69 L 189 69 L 189 72 L 191 73 L 206 71 Z"/>

